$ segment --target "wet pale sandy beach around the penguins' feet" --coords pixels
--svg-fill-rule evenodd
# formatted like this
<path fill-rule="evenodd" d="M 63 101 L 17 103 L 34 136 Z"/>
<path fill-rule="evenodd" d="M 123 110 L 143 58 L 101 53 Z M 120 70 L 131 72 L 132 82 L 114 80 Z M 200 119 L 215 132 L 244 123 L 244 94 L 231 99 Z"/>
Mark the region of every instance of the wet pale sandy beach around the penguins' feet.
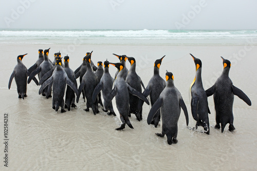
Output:
<path fill-rule="evenodd" d="M 243 45 L 96 45 L 96 44 L 22 44 L 0 45 L 0 108 L 1 108 L 1 170 L 4 168 L 4 113 L 8 113 L 9 169 L 11 170 L 256 170 L 257 165 L 257 43 L 250 40 Z M 18 99 L 15 81 L 8 89 L 10 75 L 16 65 L 17 55 L 28 53 L 23 59 L 27 68 L 38 59 L 38 49 L 48 49 L 49 59 L 61 50 L 62 56 L 70 57 L 70 68 L 76 70 L 86 52 L 94 51 L 91 60 L 119 62 L 112 53 L 133 56 L 137 73 L 144 85 L 153 75 L 156 59 L 163 59 L 160 75 L 166 70 L 174 74 L 174 84 L 180 91 L 189 113 L 189 128 L 195 126 L 191 114 L 189 87 L 195 77 L 195 64 L 189 53 L 203 63 L 204 88 L 211 87 L 223 70 L 222 59 L 231 61 L 230 78 L 243 90 L 252 102 L 248 106 L 234 98 L 234 126 L 230 132 L 214 129 L 215 110 L 213 97 L 208 98 L 211 114 L 210 135 L 199 127 L 193 131 L 186 126 L 183 112 L 178 122 L 178 143 L 169 145 L 166 136 L 157 137 L 160 126 L 146 123 L 150 107 L 143 106 L 143 120 L 135 115 L 127 125 L 117 131 L 119 120 L 107 116 L 100 109 L 96 116 L 86 112 L 82 97 L 77 108 L 61 113 L 51 107 L 52 99 L 38 94 L 39 86 L 31 82 L 27 86 L 28 97 Z M 130 68 L 127 62 L 126 67 Z M 116 68 L 110 66 L 114 77 Z M 79 80 L 78 85 L 79 85 Z"/>

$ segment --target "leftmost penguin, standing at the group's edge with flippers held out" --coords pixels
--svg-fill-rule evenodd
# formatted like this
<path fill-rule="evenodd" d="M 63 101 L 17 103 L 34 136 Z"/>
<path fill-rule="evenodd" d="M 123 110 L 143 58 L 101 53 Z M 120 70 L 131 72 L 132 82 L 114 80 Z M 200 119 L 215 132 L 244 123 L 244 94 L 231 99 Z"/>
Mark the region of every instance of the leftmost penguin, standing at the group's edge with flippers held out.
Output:
<path fill-rule="evenodd" d="M 17 56 L 17 65 L 14 67 L 13 72 L 11 74 L 8 89 L 11 88 L 12 80 L 15 79 L 16 86 L 17 86 L 17 92 L 19 97 L 24 99 L 24 97 L 27 97 L 27 77 L 30 75 L 30 71 L 26 68 L 26 66 L 23 64 L 22 59 L 24 58 L 26 54 Z M 39 85 L 38 80 L 36 78 L 33 78 L 33 81 L 36 85 Z"/>

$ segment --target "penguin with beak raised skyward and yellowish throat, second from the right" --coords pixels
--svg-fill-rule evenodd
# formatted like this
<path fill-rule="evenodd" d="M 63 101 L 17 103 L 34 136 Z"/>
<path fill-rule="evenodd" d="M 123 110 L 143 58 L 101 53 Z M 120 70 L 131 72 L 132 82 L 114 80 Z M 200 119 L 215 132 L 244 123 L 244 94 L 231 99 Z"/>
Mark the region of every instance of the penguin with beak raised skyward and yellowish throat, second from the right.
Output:
<path fill-rule="evenodd" d="M 191 112 L 194 120 L 196 121 L 195 129 L 198 126 L 203 126 L 205 133 L 210 134 L 210 124 L 208 112 L 210 112 L 208 107 L 208 99 L 203 87 L 203 82 L 201 81 L 201 60 L 195 58 L 191 53 L 195 67 L 195 79 L 190 86 L 191 91 Z"/>

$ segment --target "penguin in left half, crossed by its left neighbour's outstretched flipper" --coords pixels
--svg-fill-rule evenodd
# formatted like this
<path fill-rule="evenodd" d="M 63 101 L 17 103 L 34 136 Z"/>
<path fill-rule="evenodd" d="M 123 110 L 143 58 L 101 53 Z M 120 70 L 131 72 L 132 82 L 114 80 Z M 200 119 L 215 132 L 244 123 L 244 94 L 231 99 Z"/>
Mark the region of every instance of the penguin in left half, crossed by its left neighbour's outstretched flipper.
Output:
<path fill-rule="evenodd" d="M 64 71 L 68 75 L 68 78 L 75 84 L 75 86 L 77 88 L 78 85 L 77 85 L 77 81 L 76 81 L 76 78 L 75 78 L 75 73 L 69 67 L 69 56 L 68 55 L 64 56 L 63 62 L 64 62 L 64 65 L 65 65 L 64 66 Z M 70 110 L 70 106 L 74 107 L 74 108 L 77 107 L 75 105 L 75 92 L 74 92 L 74 90 L 72 90 L 72 88 L 67 86 L 64 108 L 68 108 L 68 110 Z"/>

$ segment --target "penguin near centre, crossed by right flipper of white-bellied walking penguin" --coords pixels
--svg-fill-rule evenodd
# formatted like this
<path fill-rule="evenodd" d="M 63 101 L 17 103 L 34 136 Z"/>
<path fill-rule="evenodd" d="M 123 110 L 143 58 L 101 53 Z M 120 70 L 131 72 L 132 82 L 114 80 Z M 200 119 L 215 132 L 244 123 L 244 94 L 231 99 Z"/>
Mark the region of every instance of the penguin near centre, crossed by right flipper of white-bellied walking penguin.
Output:
<path fill-rule="evenodd" d="M 139 92 L 142 92 L 141 85 L 142 85 L 143 89 L 145 89 L 145 87 L 144 87 L 144 84 L 143 84 L 141 78 L 136 73 L 136 60 L 135 60 L 135 58 L 128 57 L 128 56 L 126 56 L 125 58 L 127 58 L 128 62 L 130 62 L 130 64 L 131 64 L 130 70 L 128 70 L 128 73 L 127 73 L 126 83 L 128 85 L 130 85 L 132 88 L 135 88 L 136 90 L 138 90 Z M 131 115 L 131 113 L 134 113 L 137 117 L 137 120 L 141 121 L 142 120 L 142 109 L 141 110 L 138 109 L 139 100 L 140 99 L 138 97 L 130 94 L 130 114 L 129 114 L 129 116 Z"/>

